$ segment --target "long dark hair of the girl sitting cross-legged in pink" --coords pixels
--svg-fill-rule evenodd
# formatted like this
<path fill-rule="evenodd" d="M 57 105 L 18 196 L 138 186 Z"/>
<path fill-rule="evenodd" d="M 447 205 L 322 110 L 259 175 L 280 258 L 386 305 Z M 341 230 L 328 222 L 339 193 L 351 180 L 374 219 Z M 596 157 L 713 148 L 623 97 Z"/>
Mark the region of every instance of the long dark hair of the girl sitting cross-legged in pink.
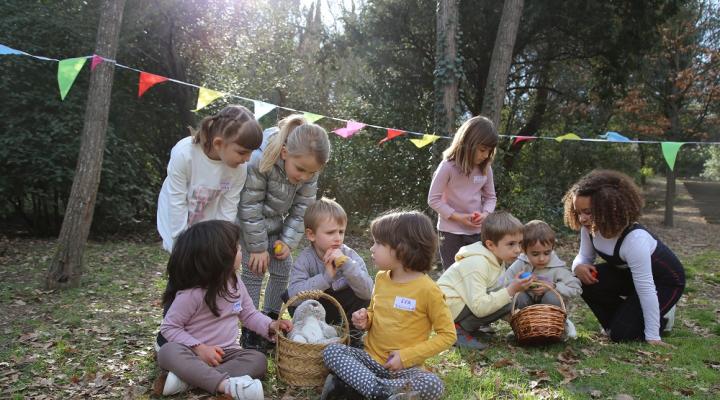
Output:
<path fill-rule="evenodd" d="M 168 260 L 163 306 L 171 304 L 179 290 L 201 288 L 206 290 L 205 304 L 219 317 L 217 298 L 237 297 L 231 288 L 237 285 L 238 239 L 240 228 L 220 220 L 198 222 L 181 233 Z"/>

